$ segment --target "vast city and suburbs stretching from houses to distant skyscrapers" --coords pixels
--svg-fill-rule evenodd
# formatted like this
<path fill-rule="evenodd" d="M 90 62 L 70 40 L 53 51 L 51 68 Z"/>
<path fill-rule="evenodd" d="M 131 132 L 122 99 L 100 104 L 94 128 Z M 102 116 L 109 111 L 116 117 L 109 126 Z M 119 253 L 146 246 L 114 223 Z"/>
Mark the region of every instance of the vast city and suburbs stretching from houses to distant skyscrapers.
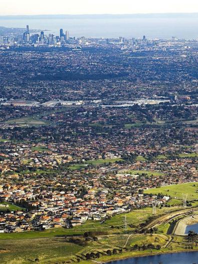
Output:
<path fill-rule="evenodd" d="M 197 60 L 197 40 L 0 28 L 0 232 L 175 206 L 144 190 L 197 181 Z"/>

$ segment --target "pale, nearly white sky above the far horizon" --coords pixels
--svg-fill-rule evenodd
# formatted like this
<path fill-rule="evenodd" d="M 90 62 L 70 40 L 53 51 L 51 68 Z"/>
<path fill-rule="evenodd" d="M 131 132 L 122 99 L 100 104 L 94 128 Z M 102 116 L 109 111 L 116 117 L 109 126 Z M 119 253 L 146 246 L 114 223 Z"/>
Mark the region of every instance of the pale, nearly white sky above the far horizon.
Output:
<path fill-rule="evenodd" d="M 0 0 L 0 15 L 193 12 L 197 0 Z"/>

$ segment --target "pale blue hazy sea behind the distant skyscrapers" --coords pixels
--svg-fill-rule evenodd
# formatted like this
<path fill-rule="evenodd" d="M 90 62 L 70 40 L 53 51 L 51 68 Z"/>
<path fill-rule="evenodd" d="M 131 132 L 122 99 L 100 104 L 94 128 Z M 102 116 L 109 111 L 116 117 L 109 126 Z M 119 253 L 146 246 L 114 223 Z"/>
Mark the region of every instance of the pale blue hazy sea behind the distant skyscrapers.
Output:
<path fill-rule="evenodd" d="M 176 18 L 83 18 L 83 19 L 0 19 L 0 27 L 48 30 L 59 35 L 60 28 L 70 36 L 93 38 L 198 39 L 198 17 Z"/>

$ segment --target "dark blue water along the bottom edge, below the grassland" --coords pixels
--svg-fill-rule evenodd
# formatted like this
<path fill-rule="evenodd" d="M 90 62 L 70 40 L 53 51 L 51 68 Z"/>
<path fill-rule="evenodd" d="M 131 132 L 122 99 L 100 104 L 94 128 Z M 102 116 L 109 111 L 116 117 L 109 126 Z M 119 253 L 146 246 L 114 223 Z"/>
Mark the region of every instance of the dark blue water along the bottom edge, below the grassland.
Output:
<path fill-rule="evenodd" d="M 198 264 L 198 251 L 133 257 L 108 264 Z"/>

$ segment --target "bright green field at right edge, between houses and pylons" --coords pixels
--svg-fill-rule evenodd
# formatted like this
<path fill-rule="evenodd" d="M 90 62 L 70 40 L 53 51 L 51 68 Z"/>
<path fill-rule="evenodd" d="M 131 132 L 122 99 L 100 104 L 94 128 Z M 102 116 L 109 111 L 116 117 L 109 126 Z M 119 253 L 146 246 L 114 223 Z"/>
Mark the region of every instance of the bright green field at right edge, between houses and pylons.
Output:
<path fill-rule="evenodd" d="M 171 204 L 181 204 L 183 196 L 182 194 L 187 194 L 187 200 L 193 201 L 198 199 L 198 183 L 184 183 L 163 186 L 160 188 L 145 190 L 144 193 L 158 194 L 162 193 L 163 195 L 168 195 L 172 198 L 169 201 Z"/>

